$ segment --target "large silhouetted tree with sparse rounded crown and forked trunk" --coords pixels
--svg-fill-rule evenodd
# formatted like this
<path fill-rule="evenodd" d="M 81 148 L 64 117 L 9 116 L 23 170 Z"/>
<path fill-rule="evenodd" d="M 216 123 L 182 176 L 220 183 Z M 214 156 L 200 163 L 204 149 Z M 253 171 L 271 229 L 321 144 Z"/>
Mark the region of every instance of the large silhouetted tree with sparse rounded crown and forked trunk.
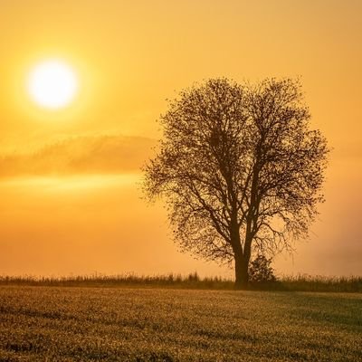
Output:
<path fill-rule="evenodd" d="M 161 116 L 144 191 L 164 196 L 183 251 L 233 262 L 238 288 L 253 252 L 291 250 L 318 214 L 329 149 L 309 123 L 291 79 L 211 79 L 181 91 Z"/>

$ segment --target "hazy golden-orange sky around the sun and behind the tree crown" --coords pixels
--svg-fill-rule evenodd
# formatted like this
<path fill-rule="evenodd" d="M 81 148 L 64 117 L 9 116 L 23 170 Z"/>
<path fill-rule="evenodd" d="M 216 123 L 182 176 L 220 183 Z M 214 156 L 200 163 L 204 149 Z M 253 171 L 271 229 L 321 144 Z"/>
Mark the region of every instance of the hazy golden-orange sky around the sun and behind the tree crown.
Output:
<path fill-rule="evenodd" d="M 170 241 L 139 167 L 167 100 L 195 81 L 301 77 L 333 148 L 319 221 L 279 273 L 362 274 L 362 2 L 1 0 L 0 273 L 233 275 Z M 62 59 L 80 92 L 33 104 L 25 80 Z"/>

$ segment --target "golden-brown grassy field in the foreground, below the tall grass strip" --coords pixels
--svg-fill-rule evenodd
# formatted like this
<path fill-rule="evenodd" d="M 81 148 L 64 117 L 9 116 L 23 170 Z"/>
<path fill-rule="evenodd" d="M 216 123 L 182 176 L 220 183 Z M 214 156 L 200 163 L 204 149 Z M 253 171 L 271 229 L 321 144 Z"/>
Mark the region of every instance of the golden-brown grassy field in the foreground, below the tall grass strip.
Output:
<path fill-rule="evenodd" d="M 362 360 L 362 295 L 0 287 L 0 361 Z"/>

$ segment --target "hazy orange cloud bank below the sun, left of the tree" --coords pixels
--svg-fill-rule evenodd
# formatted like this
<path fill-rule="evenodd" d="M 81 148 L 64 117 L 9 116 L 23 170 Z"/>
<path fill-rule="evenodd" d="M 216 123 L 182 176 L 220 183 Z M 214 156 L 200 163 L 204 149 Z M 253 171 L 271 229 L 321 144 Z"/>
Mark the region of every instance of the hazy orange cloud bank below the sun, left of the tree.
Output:
<path fill-rule="evenodd" d="M 135 172 L 156 143 L 126 136 L 67 138 L 32 153 L 0 155 L 0 177 Z"/>

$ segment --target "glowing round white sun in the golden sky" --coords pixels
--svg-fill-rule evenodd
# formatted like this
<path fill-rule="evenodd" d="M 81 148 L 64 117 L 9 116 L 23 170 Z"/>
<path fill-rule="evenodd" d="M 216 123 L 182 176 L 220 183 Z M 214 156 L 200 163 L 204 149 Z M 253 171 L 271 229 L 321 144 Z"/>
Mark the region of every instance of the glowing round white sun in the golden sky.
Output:
<path fill-rule="evenodd" d="M 78 91 L 78 79 L 66 62 L 49 60 L 33 68 L 27 89 L 32 100 L 39 106 L 58 110 L 74 100 Z"/>

